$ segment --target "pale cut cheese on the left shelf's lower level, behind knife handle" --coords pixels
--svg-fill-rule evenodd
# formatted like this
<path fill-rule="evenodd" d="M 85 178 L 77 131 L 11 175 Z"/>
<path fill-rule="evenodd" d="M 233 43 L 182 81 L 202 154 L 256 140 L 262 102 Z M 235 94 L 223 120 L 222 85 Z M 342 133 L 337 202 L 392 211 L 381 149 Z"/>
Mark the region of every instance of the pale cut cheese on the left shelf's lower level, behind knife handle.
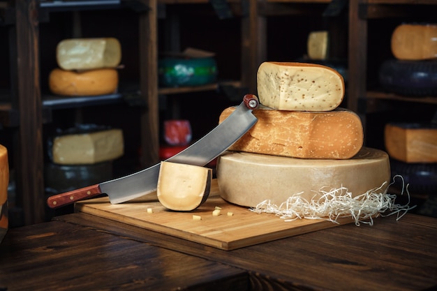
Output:
<path fill-rule="evenodd" d="M 124 154 L 121 129 L 61 135 L 53 140 L 53 163 L 84 165 L 112 161 Z"/>

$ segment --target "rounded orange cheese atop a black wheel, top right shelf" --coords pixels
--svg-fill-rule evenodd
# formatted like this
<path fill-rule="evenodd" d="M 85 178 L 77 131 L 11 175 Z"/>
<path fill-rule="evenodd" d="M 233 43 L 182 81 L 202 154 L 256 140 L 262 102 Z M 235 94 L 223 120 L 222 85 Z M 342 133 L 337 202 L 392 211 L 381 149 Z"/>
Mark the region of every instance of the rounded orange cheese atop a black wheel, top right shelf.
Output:
<path fill-rule="evenodd" d="M 392 53 L 401 60 L 437 58 L 437 24 L 401 24 L 392 33 Z"/>

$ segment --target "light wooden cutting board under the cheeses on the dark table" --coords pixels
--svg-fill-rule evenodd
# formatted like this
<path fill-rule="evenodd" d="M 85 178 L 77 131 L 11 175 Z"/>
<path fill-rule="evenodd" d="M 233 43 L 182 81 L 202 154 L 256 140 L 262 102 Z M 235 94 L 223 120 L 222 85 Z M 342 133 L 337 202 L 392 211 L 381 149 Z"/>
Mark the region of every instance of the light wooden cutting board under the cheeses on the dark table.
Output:
<path fill-rule="evenodd" d="M 212 216 L 215 207 L 221 207 L 220 216 Z M 149 208 L 152 213 L 147 212 Z M 122 204 L 110 204 L 108 197 L 84 200 L 75 203 L 75 211 L 227 251 L 353 222 L 352 218 L 339 219 L 339 224 L 310 219 L 286 222 L 274 214 L 256 214 L 247 207 L 223 200 L 215 179 L 207 201 L 189 212 L 165 209 L 156 192 Z M 228 216 L 228 212 L 232 212 L 232 216 Z M 202 219 L 195 221 L 193 215 Z"/>

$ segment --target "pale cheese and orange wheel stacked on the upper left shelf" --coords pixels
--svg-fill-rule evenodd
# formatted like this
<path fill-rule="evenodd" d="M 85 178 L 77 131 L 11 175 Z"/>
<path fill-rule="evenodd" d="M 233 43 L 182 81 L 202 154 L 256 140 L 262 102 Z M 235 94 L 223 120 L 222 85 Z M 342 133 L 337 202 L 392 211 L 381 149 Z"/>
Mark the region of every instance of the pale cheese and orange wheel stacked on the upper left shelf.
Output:
<path fill-rule="evenodd" d="M 97 96 L 117 91 L 121 46 L 116 38 L 74 38 L 57 45 L 57 64 L 49 76 L 53 94 Z"/>

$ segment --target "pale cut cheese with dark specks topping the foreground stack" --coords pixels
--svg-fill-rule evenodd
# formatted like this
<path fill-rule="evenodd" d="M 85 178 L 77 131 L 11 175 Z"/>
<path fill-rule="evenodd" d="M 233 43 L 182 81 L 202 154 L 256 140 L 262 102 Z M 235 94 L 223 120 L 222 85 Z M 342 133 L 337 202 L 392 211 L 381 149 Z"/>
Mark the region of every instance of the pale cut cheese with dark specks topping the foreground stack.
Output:
<path fill-rule="evenodd" d="M 260 103 L 276 110 L 333 110 L 345 91 L 340 73 L 319 64 L 264 62 L 257 84 Z"/>

